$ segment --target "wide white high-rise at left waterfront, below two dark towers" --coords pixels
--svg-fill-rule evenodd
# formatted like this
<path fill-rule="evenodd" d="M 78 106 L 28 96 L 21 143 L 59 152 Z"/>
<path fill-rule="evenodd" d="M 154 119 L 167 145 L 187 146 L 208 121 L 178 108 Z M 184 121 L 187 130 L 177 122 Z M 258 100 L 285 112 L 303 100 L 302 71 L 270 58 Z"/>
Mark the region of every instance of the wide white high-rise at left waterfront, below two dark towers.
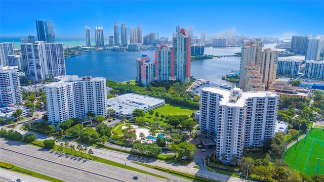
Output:
<path fill-rule="evenodd" d="M 55 76 L 66 75 L 63 43 L 34 43 L 20 44 L 22 61 L 21 67 L 25 77 L 32 81 L 43 81 Z"/>

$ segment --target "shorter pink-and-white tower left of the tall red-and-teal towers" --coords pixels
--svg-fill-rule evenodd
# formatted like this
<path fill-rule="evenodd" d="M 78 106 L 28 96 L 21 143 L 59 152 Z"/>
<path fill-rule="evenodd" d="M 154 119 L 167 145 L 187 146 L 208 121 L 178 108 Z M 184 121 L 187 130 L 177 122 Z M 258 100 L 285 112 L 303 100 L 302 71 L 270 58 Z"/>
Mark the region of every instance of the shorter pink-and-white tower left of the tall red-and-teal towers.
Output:
<path fill-rule="evenodd" d="M 154 62 L 148 58 L 147 55 L 142 55 L 136 60 L 136 68 L 136 80 L 138 84 L 147 86 L 152 81 L 154 81 L 155 65 Z"/>

